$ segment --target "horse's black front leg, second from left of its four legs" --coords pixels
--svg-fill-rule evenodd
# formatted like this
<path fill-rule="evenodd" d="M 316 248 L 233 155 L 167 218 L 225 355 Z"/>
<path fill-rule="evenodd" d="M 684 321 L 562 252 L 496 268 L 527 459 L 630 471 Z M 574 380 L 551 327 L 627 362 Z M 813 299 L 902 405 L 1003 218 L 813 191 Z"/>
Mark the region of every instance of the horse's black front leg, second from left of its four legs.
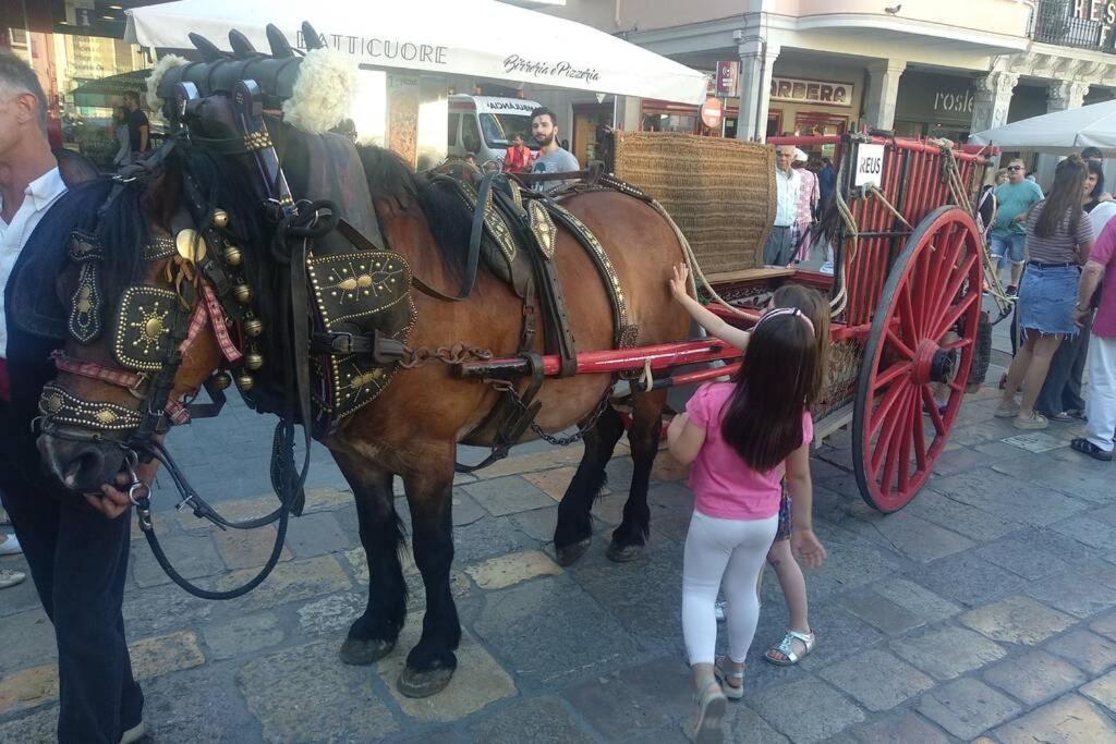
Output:
<path fill-rule="evenodd" d="M 442 466 L 427 464 L 422 473 L 406 475 L 411 505 L 415 564 L 426 588 L 426 613 L 422 638 L 407 655 L 400 675 L 400 692 L 407 697 L 427 697 L 450 684 L 458 668 L 454 649 L 461 640 L 461 622 L 450 590 L 453 563 L 453 458 Z"/>

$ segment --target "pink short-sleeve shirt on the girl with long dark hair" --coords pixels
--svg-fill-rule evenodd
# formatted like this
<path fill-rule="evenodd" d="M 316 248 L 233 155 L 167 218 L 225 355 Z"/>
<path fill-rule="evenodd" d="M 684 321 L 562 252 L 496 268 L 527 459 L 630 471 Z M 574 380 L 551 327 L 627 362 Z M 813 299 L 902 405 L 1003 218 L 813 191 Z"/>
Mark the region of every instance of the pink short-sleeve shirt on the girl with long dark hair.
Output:
<path fill-rule="evenodd" d="M 779 513 L 786 465 L 766 473 L 753 471 L 721 436 L 722 414 L 735 388 L 733 383 L 711 383 L 698 388 L 686 404 L 695 426 L 705 429 L 705 443 L 690 471 L 694 509 L 708 516 L 760 520 Z M 802 441 L 814 439 L 814 419 L 802 412 Z"/>

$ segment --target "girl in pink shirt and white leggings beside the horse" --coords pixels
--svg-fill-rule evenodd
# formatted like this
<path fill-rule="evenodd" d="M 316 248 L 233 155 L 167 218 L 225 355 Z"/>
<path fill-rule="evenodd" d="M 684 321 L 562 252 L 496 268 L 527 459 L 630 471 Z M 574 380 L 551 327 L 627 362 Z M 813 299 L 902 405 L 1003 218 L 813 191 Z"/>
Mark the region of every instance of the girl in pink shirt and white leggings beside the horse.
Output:
<path fill-rule="evenodd" d="M 732 383 L 699 388 L 671 423 L 671 454 L 693 463 L 694 514 L 686 535 L 682 629 L 694 673 L 694 741 L 720 741 L 725 693 L 742 696 L 743 664 L 756 634 L 756 582 L 776 537 L 781 481 L 795 503 L 791 547 L 808 567 L 825 559 L 811 526 L 809 408 L 818 345 L 798 309 L 769 311 L 752 329 Z M 714 659 L 714 602 L 723 588 L 729 658 Z M 729 682 L 722 690 L 716 677 Z"/>

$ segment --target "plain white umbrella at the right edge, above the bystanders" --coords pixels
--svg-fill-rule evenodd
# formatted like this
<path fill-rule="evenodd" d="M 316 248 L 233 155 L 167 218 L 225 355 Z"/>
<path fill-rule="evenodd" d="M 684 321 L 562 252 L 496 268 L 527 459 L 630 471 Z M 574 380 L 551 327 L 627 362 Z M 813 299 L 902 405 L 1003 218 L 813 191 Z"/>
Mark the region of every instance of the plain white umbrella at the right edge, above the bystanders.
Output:
<path fill-rule="evenodd" d="M 1116 154 L 1116 100 L 1043 114 L 969 136 L 978 145 L 1069 155 L 1085 147 Z"/>

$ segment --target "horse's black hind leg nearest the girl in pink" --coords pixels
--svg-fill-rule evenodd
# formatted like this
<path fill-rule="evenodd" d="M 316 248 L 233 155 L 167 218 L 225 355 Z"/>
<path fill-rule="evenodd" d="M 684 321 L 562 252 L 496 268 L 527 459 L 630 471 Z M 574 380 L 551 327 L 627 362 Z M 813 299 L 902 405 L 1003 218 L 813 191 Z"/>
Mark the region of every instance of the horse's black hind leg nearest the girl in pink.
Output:
<path fill-rule="evenodd" d="M 613 542 L 608 547 L 607 555 L 614 561 L 624 562 L 638 558 L 651 532 L 647 486 L 655 455 L 658 454 L 665 403 L 666 390 L 636 393 L 632 396 L 632 428 L 628 431 L 633 464 L 632 487 L 624 503 L 624 519 L 613 531 Z"/>

